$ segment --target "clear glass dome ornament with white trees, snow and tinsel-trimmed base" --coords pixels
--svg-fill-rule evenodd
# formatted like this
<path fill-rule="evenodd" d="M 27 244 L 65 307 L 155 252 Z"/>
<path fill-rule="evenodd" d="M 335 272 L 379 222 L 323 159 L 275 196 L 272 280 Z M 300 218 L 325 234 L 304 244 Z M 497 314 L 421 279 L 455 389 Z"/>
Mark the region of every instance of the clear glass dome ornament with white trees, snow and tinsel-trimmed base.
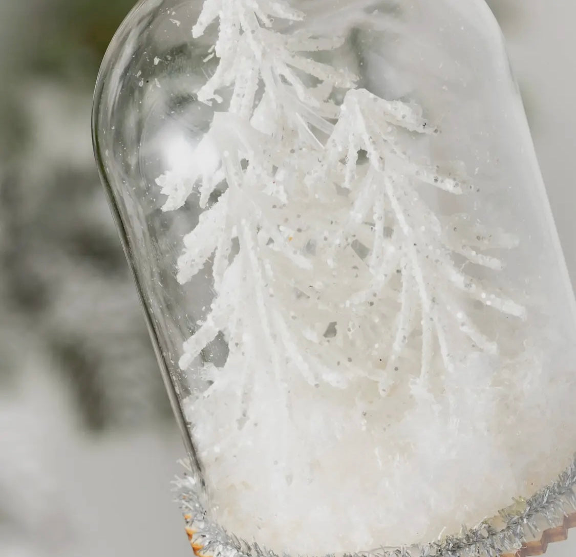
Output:
<path fill-rule="evenodd" d="M 576 302 L 484 0 L 145 0 L 93 128 L 196 555 L 576 524 Z"/>

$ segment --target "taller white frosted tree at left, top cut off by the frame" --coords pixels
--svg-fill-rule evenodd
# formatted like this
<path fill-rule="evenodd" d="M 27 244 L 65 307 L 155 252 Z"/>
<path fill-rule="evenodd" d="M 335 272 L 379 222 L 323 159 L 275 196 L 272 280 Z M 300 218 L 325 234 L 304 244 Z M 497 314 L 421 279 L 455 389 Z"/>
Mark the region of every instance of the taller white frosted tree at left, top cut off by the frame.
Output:
<path fill-rule="evenodd" d="M 223 103 L 215 91 L 232 86 L 228 111 L 215 113 L 210 131 L 192 154 L 186 172 L 168 172 L 157 180 L 168 195 L 165 210 L 180 207 L 196 187 L 200 206 L 206 207 L 218 184 L 225 183 L 225 192 L 185 238 L 178 262 L 177 278 L 185 283 L 211 260 L 216 292 L 209 317 L 184 344 L 180 366 L 190 366 L 206 344 L 223 331 L 230 346 L 237 346 L 247 359 L 261 358 L 264 352 L 264 366 L 272 365 L 278 377 L 288 359 L 312 384 L 324 379 L 341 386 L 342 374 L 323 366 L 308 355 L 313 351 L 302 346 L 314 342 L 310 339 L 316 334 L 285 323 L 286 305 L 280 306 L 273 298 L 281 300 L 275 297 L 274 289 L 290 288 L 281 285 L 277 270 L 289 278 L 294 269 L 312 269 L 302 246 L 299 249 L 298 242 L 292 243 L 294 230 L 287 223 L 295 215 L 286 209 L 287 190 L 294 199 L 298 197 L 305 170 L 317 160 L 316 151 L 322 148 L 317 134 L 332 131 L 329 119 L 338 114 L 338 107 L 328 100 L 329 94 L 334 88 L 349 88 L 354 79 L 346 71 L 314 62 L 298 52 L 338 48 L 342 39 L 315 39 L 302 33 L 284 36 L 271 31 L 271 17 L 295 21 L 302 15 L 282 2 L 266 0 L 209 0 L 194 35 L 202 34 L 217 16 L 215 54 L 219 65 L 199 90 L 198 98 L 205 103 Z M 304 75 L 319 85 L 311 87 Z M 304 192 L 308 195 L 305 188 Z M 239 246 L 237 255 L 232 255 L 234 242 Z M 230 277 L 247 284 L 239 288 Z M 257 308 L 252 335 L 262 340 L 250 354 L 242 340 L 247 336 L 242 335 L 242 326 L 248 326 L 248 304 Z M 241 336 L 238 342 L 237 335 Z"/>

